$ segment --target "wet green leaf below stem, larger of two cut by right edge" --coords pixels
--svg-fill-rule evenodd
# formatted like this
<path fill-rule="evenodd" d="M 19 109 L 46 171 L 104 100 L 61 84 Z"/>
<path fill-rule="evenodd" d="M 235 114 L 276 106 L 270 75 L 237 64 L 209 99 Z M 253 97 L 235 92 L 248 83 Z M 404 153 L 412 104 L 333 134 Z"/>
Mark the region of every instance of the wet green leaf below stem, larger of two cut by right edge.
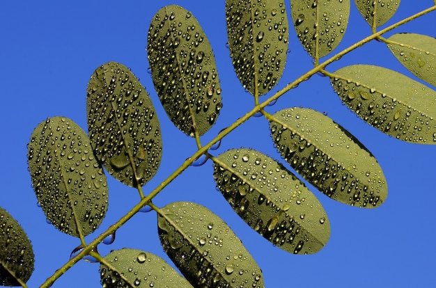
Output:
<path fill-rule="evenodd" d="M 380 131 L 411 143 L 436 144 L 436 92 L 398 72 L 351 65 L 330 74 L 342 101 Z"/>

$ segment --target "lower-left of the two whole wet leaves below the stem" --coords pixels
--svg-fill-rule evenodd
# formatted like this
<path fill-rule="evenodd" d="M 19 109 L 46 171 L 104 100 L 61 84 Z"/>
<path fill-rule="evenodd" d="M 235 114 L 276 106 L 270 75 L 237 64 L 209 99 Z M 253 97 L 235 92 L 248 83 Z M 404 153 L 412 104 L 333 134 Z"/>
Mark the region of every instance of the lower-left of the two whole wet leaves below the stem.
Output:
<path fill-rule="evenodd" d="M 229 150 L 215 161 L 217 186 L 256 232 L 290 253 L 325 246 L 330 225 L 318 199 L 277 161 L 249 149 Z"/>

